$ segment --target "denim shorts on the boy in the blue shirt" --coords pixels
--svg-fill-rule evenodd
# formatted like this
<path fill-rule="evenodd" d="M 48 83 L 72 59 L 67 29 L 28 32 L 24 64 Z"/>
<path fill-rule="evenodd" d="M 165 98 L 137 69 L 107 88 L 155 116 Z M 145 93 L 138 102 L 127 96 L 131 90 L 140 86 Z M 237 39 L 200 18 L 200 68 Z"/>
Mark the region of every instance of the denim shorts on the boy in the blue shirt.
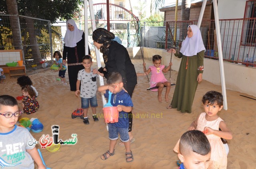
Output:
<path fill-rule="evenodd" d="M 120 135 L 120 140 L 122 142 L 129 141 L 128 128 L 118 128 L 113 124 L 108 124 L 108 138 L 110 140 L 117 140 L 118 134 Z"/>

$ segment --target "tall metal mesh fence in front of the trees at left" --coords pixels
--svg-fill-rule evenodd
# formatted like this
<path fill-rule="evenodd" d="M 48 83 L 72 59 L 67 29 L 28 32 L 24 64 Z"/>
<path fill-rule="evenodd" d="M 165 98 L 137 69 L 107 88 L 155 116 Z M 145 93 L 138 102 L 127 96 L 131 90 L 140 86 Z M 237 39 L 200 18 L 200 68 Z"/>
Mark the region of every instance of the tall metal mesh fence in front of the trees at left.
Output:
<path fill-rule="evenodd" d="M 13 26 L 14 17 L 18 18 L 16 27 Z M 14 34 L 16 30 L 18 35 Z M 15 42 L 17 39 L 20 43 Z M 62 49 L 62 39 L 58 28 L 52 29 L 48 20 L 1 14 L 0 49 L 22 49 L 26 74 L 30 75 L 49 70 L 53 63 L 52 51 Z M 47 63 L 48 67 L 42 67 L 43 62 Z"/>

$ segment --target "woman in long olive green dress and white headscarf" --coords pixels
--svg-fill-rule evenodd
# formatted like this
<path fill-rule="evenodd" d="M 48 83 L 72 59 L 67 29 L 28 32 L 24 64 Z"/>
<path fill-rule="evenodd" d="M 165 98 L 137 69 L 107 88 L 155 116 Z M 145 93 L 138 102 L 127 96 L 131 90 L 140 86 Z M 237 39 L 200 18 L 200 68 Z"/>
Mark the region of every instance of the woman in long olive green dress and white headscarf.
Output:
<path fill-rule="evenodd" d="M 168 52 L 182 59 L 172 102 L 167 108 L 177 108 L 178 111 L 191 113 L 196 88 L 202 81 L 204 71 L 205 47 L 198 26 L 188 26 L 187 37 L 182 42 L 180 53 L 175 49 Z"/>

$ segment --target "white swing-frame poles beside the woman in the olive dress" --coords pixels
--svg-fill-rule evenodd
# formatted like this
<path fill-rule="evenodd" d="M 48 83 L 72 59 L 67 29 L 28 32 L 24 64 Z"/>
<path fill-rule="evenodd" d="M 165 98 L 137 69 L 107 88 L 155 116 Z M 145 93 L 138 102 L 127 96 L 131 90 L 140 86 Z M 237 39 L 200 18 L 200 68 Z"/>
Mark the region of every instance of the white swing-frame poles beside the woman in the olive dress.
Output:
<path fill-rule="evenodd" d="M 198 28 L 200 28 L 204 10 L 206 6 L 206 1 L 204 0 L 200 12 L 200 16 L 198 18 Z M 218 14 L 218 5 L 217 0 L 213 0 L 213 9 L 214 9 L 214 19 L 215 19 L 215 27 L 216 27 L 216 39 L 217 39 L 217 46 L 218 46 L 218 56 L 219 56 L 219 65 L 220 65 L 220 81 L 222 87 L 222 95 L 223 95 L 223 108 L 224 110 L 228 110 L 228 103 L 227 103 L 227 95 L 226 95 L 226 83 L 225 83 L 225 75 L 224 75 L 224 64 L 223 64 L 223 57 L 222 57 L 222 45 L 220 40 L 220 23 L 219 23 L 219 14 Z"/>

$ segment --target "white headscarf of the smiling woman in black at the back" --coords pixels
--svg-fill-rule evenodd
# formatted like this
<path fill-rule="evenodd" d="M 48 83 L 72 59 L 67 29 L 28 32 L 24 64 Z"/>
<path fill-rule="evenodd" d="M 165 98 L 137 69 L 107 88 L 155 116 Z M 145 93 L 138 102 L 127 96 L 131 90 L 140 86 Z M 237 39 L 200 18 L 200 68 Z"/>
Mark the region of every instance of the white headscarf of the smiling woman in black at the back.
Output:
<path fill-rule="evenodd" d="M 70 31 L 68 29 L 68 24 L 74 26 L 74 31 Z M 83 30 L 80 30 L 76 26 L 76 22 L 74 20 L 68 20 L 67 21 L 67 31 L 64 37 L 64 43 L 67 47 L 75 47 L 76 43 L 79 42 L 82 39 Z"/>

